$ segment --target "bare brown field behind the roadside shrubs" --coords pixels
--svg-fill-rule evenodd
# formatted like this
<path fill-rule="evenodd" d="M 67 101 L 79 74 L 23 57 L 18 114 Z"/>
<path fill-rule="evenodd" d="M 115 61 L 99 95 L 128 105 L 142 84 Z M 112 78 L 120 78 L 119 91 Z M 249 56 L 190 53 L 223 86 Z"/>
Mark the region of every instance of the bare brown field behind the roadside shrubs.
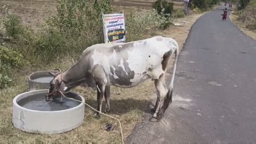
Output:
<path fill-rule="evenodd" d="M 130 11 L 150 10 L 153 1 L 125 1 L 115 0 L 111 4 L 115 7 L 115 11 L 123 9 L 125 13 Z M 22 22 L 38 29 L 40 25 L 45 23 L 45 19 L 56 13 L 56 2 L 52 0 L 3 0 L 0 1 L 0 18 L 5 16 L 6 10 L 3 6 L 6 5 L 7 13 L 15 13 L 21 17 Z M 174 2 L 174 9 L 183 9 L 183 2 Z"/>

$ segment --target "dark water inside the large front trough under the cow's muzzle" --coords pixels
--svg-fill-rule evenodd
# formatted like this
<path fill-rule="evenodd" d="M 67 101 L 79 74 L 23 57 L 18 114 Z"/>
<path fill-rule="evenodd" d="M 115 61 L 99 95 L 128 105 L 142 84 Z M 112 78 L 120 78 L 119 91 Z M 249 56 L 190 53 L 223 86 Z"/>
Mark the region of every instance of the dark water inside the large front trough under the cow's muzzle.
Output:
<path fill-rule="evenodd" d="M 60 97 L 54 98 L 53 101 L 47 103 L 45 100 L 45 93 L 31 95 L 29 97 L 23 98 L 19 100 L 18 105 L 25 107 L 31 110 L 39 110 L 39 111 L 58 111 L 58 110 L 66 110 L 72 107 L 78 106 L 80 102 L 73 101 L 70 99 L 63 98 L 61 101 Z M 67 97 L 71 97 L 74 99 L 78 99 L 81 101 L 77 95 L 69 93 Z"/>

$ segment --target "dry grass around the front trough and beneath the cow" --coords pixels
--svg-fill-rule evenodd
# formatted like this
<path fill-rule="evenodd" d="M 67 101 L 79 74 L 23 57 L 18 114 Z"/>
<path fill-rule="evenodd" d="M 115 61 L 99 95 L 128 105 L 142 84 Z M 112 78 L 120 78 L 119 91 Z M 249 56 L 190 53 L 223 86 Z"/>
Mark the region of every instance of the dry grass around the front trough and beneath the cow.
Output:
<path fill-rule="evenodd" d="M 94 118 L 94 112 L 86 107 L 85 121 L 77 129 L 63 134 L 41 135 L 30 134 L 15 129 L 11 123 L 11 102 L 15 95 L 27 91 L 26 77 L 21 79 L 24 85 L 12 87 L 8 91 L 1 92 L 0 98 L 0 142 L 120 142 L 118 122 L 102 116 L 100 119 Z M 151 94 L 153 85 L 146 82 L 144 85 L 134 89 L 121 90 L 111 87 L 111 115 L 117 117 L 122 122 L 124 137 L 129 135 L 134 124 L 141 120 L 141 115 L 149 103 L 147 97 Z M 96 107 L 96 94 L 91 89 L 77 88 L 79 94 L 84 95 L 86 102 Z M 143 94 L 143 95 L 138 95 Z M 8 97 L 6 97 L 8 95 Z M 105 124 L 113 123 L 115 129 L 111 132 L 105 131 Z M 43 125 L 43 123 L 42 123 Z M 46 125 L 47 126 L 47 125 Z"/>

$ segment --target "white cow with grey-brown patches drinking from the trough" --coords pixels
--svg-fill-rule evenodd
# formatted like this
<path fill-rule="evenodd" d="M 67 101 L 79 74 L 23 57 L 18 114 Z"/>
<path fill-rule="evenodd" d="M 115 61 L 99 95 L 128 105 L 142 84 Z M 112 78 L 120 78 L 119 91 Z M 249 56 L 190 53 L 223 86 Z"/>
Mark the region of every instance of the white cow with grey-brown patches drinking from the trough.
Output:
<path fill-rule="evenodd" d="M 166 87 L 165 73 L 174 53 L 173 76 L 170 86 Z M 66 93 L 79 85 L 97 87 L 97 110 L 102 111 L 105 97 L 105 112 L 108 112 L 110 85 L 134 87 L 151 78 L 157 89 L 152 118 L 161 119 L 171 103 L 177 58 L 178 43 L 172 38 L 161 36 L 135 42 L 93 45 L 83 51 L 82 57 L 69 70 L 59 74 L 51 73 L 54 79 L 50 82 L 46 100 L 58 95 L 58 91 Z"/>

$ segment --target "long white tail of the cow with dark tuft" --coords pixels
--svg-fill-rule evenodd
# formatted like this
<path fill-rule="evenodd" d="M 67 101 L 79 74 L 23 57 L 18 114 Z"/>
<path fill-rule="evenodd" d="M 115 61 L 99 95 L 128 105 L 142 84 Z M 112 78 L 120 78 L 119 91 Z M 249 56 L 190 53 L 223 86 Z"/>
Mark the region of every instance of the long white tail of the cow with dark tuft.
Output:
<path fill-rule="evenodd" d="M 178 55 L 179 55 L 179 49 L 177 46 L 177 49 L 175 50 L 175 59 L 174 59 L 174 66 L 173 66 L 173 76 L 171 77 L 171 83 L 169 86 L 168 93 L 165 96 L 165 99 L 163 101 L 163 105 L 161 107 L 161 110 L 159 111 L 159 116 L 162 117 L 162 115 L 165 113 L 165 110 L 169 105 L 171 104 L 171 100 L 173 98 L 173 83 L 174 83 L 174 76 L 176 72 L 176 67 L 177 67 L 177 61 L 178 61 Z"/>

